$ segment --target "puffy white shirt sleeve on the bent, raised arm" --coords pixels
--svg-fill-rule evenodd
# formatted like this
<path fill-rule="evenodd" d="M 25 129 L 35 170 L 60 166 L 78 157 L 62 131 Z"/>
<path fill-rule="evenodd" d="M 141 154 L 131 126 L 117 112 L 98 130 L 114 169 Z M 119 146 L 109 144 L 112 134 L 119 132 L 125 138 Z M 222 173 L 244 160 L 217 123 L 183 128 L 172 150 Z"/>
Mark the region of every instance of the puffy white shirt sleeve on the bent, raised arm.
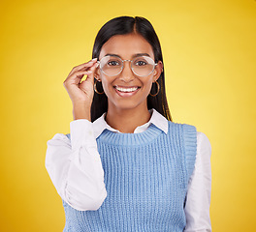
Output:
<path fill-rule="evenodd" d="M 92 123 L 79 119 L 70 123 L 70 139 L 56 133 L 48 140 L 46 168 L 60 197 L 71 207 L 98 210 L 107 190 Z"/>

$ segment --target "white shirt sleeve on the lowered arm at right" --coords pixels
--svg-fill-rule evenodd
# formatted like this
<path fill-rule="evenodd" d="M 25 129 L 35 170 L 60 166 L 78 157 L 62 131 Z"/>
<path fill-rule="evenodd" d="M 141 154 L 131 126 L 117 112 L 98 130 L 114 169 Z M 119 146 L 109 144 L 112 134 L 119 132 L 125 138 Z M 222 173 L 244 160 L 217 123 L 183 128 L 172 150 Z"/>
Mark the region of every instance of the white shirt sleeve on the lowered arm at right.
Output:
<path fill-rule="evenodd" d="M 211 232 L 209 217 L 211 192 L 211 146 L 203 132 L 197 132 L 197 155 L 193 174 L 189 180 L 185 204 L 186 228 L 184 232 Z"/>

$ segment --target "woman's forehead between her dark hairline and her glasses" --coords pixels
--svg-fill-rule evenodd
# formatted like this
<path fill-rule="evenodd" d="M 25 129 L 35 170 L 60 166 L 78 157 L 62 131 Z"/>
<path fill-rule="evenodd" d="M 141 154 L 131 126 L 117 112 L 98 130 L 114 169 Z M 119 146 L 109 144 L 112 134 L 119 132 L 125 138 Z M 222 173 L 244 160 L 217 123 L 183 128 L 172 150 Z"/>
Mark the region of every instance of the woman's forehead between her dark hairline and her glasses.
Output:
<path fill-rule="evenodd" d="M 122 59 L 131 59 L 135 54 L 147 53 L 154 59 L 151 45 L 139 34 L 113 36 L 103 44 L 99 58 L 109 53 L 119 55 Z"/>

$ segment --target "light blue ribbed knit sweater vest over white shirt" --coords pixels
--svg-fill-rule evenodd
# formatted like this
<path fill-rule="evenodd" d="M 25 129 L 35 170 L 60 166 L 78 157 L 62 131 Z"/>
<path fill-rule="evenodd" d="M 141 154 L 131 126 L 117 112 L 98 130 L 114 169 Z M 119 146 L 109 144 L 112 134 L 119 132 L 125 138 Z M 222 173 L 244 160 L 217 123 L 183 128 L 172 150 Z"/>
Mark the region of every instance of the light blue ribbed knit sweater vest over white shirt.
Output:
<path fill-rule="evenodd" d="M 63 201 L 64 231 L 181 232 L 184 204 L 197 152 L 196 128 L 169 121 L 141 133 L 105 130 L 97 138 L 108 196 L 97 211 Z"/>

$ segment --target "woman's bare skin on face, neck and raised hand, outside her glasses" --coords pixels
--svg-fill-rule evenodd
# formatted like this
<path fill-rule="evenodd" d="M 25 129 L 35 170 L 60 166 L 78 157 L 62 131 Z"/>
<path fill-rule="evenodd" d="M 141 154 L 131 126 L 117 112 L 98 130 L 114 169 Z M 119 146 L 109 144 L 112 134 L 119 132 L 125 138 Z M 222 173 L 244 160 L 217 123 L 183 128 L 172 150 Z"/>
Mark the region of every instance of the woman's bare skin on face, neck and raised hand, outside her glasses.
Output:
<path fill-rule="evenodd" d="M 113 36 L 101 49 L 99 58 L 107 54 L 116 54 L 123 60 L 132 60 L 138 53 L 147 53 L 154 60 L 152 47 L 144 38 L 136 33 Z M 130 62 L 124 62 L 124 69 L 116 76 L 107 76 L 97 68 L 96 61 L 75 67 L 64 81 L 73 102 L 74 120 L 90 120 L 90 105 L 93 98 L 93 76 L 102 81 L 103 89 L 108 97 L 109 108 L 106 115 L 107 123 L 121 132 L 134 132 L 150 119 L 146 98 L 150 93 L 152 83 L 162 71 L 161 61 L 153 73 L 148 76 L 138 76 L 130 69 Z M 88 73 L 91 72 L 91 73 Z M 82 76 L 87 78 L 80 82 Z M 132 96 L 121 96 L 115 87 L 139 87 Z"/>

